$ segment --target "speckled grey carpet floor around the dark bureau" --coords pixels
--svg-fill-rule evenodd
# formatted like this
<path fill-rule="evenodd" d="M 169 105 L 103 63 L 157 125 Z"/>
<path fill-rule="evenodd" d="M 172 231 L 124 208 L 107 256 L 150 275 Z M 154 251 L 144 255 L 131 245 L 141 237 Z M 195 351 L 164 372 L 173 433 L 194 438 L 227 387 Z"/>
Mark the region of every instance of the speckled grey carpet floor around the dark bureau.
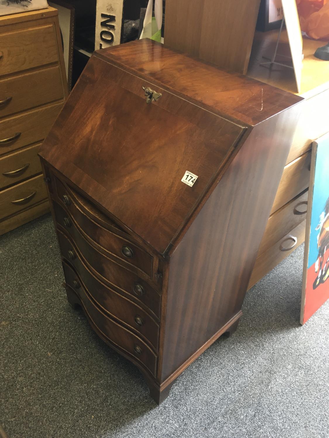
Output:
<path fill-rule="evenodd" d="M 0 423 L 10 438 L 329 437 L 329 303 L 298 324 L 303 247 L 247 294 L 156 406 L 68 305 L 49 215 L 0 237 Z"/>

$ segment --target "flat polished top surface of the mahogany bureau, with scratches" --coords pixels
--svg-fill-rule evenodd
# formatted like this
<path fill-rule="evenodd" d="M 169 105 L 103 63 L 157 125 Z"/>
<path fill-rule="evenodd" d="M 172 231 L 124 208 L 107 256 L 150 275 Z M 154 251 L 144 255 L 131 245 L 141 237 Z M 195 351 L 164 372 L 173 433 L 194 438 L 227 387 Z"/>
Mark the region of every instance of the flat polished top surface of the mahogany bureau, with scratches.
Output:
<path fill-rule="evenodd" d="M 212 113 L 239 120 L 239 124 L 255 126 L 303 100 L 264 82 L 201 63 L 150 39 L 101 49 L 95 56 Z"/>

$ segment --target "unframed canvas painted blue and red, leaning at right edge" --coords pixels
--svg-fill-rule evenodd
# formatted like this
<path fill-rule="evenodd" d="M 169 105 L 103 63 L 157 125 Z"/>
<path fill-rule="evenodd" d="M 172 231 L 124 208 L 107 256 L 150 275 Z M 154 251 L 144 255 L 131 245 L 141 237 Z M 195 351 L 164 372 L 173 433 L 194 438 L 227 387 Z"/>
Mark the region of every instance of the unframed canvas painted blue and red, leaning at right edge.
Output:
<path fill-rule="evenodd" d="M 329 134 L 313 142 L 300 324 L 329 299 Z"/>

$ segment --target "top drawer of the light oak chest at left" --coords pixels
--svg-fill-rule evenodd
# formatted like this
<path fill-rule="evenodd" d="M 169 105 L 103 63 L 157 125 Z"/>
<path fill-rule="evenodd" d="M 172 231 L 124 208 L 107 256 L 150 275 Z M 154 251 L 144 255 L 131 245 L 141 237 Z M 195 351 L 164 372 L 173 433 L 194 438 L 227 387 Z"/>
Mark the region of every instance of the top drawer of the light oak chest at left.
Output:
<path fill-rule="evenodd" d="M 58 62 L 53 24 L 0 33 L 0 73 L 17 73 Z"/>

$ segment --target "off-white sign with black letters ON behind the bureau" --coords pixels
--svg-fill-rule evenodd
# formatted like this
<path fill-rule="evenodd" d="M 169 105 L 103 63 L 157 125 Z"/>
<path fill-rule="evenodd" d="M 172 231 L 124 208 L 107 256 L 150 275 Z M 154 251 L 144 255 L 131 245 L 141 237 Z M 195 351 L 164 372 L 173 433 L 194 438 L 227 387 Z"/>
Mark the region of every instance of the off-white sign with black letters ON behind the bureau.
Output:
<path fill-rule="evenodd" d="M 124 0 L 97 0 L 95 50 L 121 42 Z"/>

